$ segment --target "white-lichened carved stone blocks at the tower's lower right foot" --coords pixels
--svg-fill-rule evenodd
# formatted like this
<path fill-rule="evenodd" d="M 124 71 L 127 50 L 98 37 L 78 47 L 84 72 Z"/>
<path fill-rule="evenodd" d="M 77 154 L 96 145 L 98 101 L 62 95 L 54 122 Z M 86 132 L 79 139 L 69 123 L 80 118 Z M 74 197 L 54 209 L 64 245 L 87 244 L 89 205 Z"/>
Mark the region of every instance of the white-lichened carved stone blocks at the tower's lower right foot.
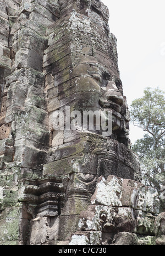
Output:
<path fill-rule="evenodd" d="M 131 185 L 134 184 L 134 187 L 123 186 L 129 182 Z M 130 232 L 155 236 L 155 215 L 146 212 L 145 207 L 148 188 L 142 190 L 142 187 L 144 187 L 142 184 L 137 184 L 133 180 L 109 176 L 106 182 L 103 177 L 100 177 L 96 191 L 91 197 L 91 206 L 80 213 L 80 230 Z M 141 201 L 141 198 L 144 200 Z M 156 204 L 158 207 L 158 198 L 155 198 Z"/>

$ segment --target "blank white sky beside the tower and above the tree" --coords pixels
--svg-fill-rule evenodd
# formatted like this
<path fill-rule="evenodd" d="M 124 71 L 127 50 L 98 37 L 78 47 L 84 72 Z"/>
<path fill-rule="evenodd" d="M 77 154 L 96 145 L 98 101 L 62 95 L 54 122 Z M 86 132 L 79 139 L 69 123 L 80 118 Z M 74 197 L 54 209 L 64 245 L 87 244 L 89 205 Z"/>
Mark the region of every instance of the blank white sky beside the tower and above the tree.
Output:
<path fill-rule="evenodd" d="M 118 65 L 128 105 L 144 88 L 165 90 L 165 0 L 102 0 L 117 38 Z M 131 142 L 143 137 L 130 123 Z"/>

